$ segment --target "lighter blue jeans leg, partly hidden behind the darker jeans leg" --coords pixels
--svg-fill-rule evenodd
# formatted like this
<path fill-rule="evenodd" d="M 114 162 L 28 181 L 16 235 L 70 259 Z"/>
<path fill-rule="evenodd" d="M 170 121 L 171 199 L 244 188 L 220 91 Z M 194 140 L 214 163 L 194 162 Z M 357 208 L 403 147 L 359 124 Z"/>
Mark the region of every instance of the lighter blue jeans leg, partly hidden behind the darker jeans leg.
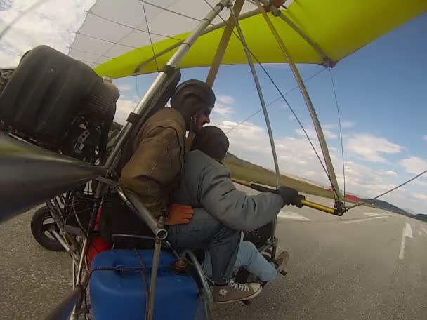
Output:
<path fill-rule="evenodd" d="M 204 274 L 208 278 L 212 274 L 212 261 L 213 258 L 207 253 L 202 267 Z M 242 241 L 240 243 L 233 274 L 236 274 L 240 268 L 247 269 L 247 271 L 257 276 L 261 281 L 274 281 L 277 278 L 277 269 L 275 266 L 271 262 L 268 262 L 256 246 L 249 241 Z"/>

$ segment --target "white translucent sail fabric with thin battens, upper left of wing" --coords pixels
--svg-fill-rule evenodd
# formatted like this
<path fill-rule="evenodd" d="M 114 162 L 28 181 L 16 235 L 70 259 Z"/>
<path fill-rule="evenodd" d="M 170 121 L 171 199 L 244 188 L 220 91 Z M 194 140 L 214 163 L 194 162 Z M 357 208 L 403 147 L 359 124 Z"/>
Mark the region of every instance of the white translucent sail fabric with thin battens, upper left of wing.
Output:
<path fill-rule="evenodd" d="M 218 3 L 208 2 L 211 6 Z M 254 9 L 254 4 L 245 1 L 242 13 Z M 88 11 L 68 55 L 94 68 L 135 48 L 150 45 L 150 35 L 156 43 L 189 32 L 209 11 L 211 7 L 204 0 L 98 0 Z M 221 12 L 221 17 L 228 20 L 228 11 Z M 218 22 L 222 22 L 220 17 L 212 23 Z"/>

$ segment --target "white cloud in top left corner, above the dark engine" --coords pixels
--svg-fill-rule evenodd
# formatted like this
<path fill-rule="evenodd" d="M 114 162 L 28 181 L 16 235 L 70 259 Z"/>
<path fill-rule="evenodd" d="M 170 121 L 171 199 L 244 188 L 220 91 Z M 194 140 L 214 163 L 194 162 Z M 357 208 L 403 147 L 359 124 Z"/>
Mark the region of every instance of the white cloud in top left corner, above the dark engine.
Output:
<path fill-rule="evenodd" d="M 6 32 L 0 44 L 0 65 L 14 67 L 25 51 L 46 44 L 67 53 L 74 31 L 79 29 L 95 0 L 46 1 L 27 13 Z M 0 29 L 32 6 L 34 0 L 8 1 L 0 11 Z"/>

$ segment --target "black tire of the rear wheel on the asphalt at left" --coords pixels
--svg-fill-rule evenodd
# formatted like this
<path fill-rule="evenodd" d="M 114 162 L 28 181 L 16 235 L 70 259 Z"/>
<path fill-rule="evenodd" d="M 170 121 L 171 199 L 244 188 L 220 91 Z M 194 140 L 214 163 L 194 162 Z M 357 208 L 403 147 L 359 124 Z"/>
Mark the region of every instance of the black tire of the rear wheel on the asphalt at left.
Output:
<path fill-rule="evenodd" d="M 48 229 L 51 228 L 55 229 L 56 232 L 59 232 L 55 221 L 45 223 L 46 220 L 53 220 L 53 218 L 48 207 L 44 206 L 39 208 L 31 219 L 31 232 L 34 239 L 36 239 L 40 246 L 50 251 L 65 251 L 60 242 L 48 234 Z"/>

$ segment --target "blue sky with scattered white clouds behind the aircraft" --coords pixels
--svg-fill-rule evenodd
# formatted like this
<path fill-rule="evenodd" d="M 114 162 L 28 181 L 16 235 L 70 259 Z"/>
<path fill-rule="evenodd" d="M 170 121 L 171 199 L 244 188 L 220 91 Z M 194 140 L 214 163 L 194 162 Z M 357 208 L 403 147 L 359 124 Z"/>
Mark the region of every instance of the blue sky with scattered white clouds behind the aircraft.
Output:
<path fill-rule="evenodd" d="M 16 65 L 25 51 L 48 44 L 67 53 L 74 31 L 83 23 L 95 0 L 64 1 L 60 7 L 47 1 L 26 15 L 1 39 L 0 65 Z M 0 0 L 0 29 L 33 0 Z M 427 14 L 353 53 L 331 69 L 341 120 L 348 192 L 373 197 L 427 168 Z M 283 92 L 296 86 L 289 66 L 266 65 Z M 343 189 L 341 142 L 329 69 L 298 65 L 307 82 Z M 265 101 L 279 97 L 260 68 L 258 76 Z M 323 70 L 323 71 L 322 71 Z M 209 69 L 183 70 L 185 79 L 206 79 Z M 115 81 L 121 89 L 116 119 L 123 122 L 143 95 L 155 74 Z M 138 84 L 138 86 L 136 86 Z M 137 90 L 138 88 L 138 90 Z M 214 91 L 217 103 L 211 124 L 228 132 L 230 152 L 267 168 L 273 168 L 270 142 L 262 112 L 241 126 L 236 124 L 261 105 L 248 65 L 221 67 Z M 315 147 L 320 150 L 310 116 L 298 90 L 286 96 Z M 282 100 L 268 107 L 282 173 L 327 185 L 319 161 L 301 135 L 296 120 Z M 383 199 L 402 208 L 427 213 L 427 177 L 420 178 Z"/>

